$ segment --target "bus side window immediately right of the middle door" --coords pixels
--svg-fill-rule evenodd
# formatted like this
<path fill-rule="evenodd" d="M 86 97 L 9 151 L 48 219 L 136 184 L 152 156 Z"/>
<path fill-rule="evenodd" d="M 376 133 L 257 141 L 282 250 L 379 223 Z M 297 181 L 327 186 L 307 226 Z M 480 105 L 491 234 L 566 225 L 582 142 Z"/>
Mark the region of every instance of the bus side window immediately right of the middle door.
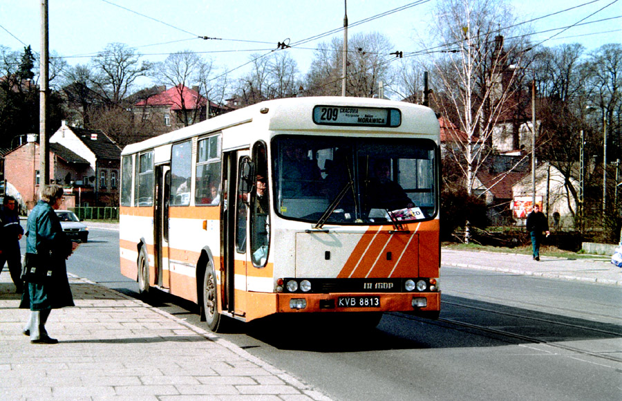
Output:
<path fill-rule="evenodd" d="M 190 205 L 190 176 L 192 144 L 186 142 L 173 144 L 171 154 L 171 206 Z"/>

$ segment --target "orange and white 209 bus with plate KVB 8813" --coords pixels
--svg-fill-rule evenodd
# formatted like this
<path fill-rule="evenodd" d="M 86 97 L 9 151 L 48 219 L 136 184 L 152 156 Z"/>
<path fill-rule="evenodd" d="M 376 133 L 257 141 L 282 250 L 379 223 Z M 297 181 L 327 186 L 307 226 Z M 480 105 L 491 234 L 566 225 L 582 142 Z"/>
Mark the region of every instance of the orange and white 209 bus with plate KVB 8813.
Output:
<path fill-rule="evenodd" d="M 427 107 L 269 100 L 122 151 L 120 268 L 227 320 L 440 313 L 440 128 Z"/>

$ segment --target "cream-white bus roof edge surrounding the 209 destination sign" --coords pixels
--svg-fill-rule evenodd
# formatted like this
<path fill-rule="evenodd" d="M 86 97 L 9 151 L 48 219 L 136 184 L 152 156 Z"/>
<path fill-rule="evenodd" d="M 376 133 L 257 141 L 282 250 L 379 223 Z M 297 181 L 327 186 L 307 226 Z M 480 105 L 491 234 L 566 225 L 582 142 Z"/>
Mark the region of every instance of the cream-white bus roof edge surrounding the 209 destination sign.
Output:
<path fill-rule="evenodd" d="M 394 108 L 402 113 L 399 127 L 334 127 L 321 126 L 312 120 L 315 106 L 349 106 Z M 439 136 L 440 128 L 435 113 L 426 106 L 393 100 L 381 100 L 368 97 L 289 97 L 285 99 L 267 100 L 236 111 L 218 115 L 215 118 L 198 122 L 189 127 L 164 133 L 142 142 L 127 145 L 122 155 L 128 155 L 151 149 L 163 144 L 178 142 L 186 138 L 204 133 L 218 132 L 227 127 L 255 122 L 258 128 L 268 131 L 359 131 L 359 132 L 391 132 L 391 133 L 420 133 L 430 136 Z M 263 126 L 263 127 L 262 127 Z"/>

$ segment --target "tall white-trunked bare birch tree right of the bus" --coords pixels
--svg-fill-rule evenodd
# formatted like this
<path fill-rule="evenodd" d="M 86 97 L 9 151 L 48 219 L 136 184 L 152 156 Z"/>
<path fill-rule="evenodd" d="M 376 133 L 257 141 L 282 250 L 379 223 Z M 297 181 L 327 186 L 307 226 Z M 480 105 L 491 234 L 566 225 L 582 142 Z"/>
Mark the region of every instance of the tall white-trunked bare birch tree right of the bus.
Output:
<path fill-rule="evenodd" d="M 504 3 L 492 0 L 446 0 L 438 3 L 433 24 L 435 37 L 446 53 L 433 59 L 437 102 L 444 115 L 465 136 L 457 136 L 453 153 L 472 194 L 475 174 L 491 153 L 496 124 L 507 113 L 517 91 L 516 69 L 524 46 L 498 35 L 501 24 L 511 24 Z M 513 64 L 513 68 L 509 66 Z"/>

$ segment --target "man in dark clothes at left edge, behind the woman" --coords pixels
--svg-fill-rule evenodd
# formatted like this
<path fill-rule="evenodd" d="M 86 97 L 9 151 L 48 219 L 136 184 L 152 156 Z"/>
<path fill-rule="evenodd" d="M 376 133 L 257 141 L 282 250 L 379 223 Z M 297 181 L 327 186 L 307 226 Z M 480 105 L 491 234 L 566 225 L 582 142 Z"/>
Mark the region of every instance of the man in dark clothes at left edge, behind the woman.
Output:
<path fill-rule="evenodd" d="M 17 215 L 17 201 L 12 196 L 5 196 L 2 202 L 3 210 L 0 213 L 0 272 L 4 263 L 8 264 L 11 279 L 15 283 L 15 292 L 22 292 L 21 281 L 21 250 L 19 240 L 23 234 L 23 228 L 19 224 Z"/>

